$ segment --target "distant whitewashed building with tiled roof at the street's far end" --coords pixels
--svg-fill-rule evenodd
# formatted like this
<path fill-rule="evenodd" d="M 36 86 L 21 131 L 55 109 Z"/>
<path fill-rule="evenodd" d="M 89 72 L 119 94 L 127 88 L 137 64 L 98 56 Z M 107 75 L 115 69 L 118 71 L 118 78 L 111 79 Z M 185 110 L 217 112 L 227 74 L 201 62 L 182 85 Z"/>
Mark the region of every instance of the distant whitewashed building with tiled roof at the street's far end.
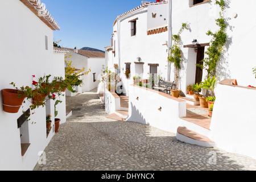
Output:
<path fill-rule="evenodd" d="M 67 96 L 74 96 L 77 93 L 88 92 L 94 88 L 97 88 L 100 82 L 100 74 L 105 68 L 105 53 L 100 51 L 85 51 L 81 49 L 65 48 L 69 50 L 69 56 L 67 61 L 72 61 L 72 67 L 76 69 L 85 68 L 85 71 L 89 71 L 88 75 L 81 77 L 83 85 L 77 86 L 76 93 L 71 93 L 66 90 Z"/>

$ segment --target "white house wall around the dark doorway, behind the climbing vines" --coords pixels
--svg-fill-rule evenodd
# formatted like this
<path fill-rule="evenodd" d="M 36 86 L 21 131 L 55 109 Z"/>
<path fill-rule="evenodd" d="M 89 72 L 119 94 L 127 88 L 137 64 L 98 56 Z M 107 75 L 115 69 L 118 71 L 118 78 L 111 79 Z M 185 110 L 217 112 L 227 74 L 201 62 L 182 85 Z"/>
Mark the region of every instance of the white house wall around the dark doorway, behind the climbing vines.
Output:
<path fill-rule="evenodd" d="M 224 18 L 228 22 L 226 32 L 228 41 L 226 43 L 226 52 L 222 60 L 217 66 L 218 81 L 225 78 L 236 78 L 241 85 L 256 85 L 255 77 L 253 76 L 252 68 L 255 63 L 249 52 L 254 52 L 254 47 L 248 43 L 255 42 L 254 31 L 255 22 L 251 21 L 256 18 L 254 13 L 255 1 L 246 0 L 241 6 L 240 1 L 225 1 L 228 8 L 225 9 Z M 183 45 L 192 44 L 193 39 L 197 39 L 199 43 L 209 43 L 211 36 L 206 35 L 208 30 L 216 32 L 218 26 L 215 19 L 218 18 L 220 7 L 214 4 L 215 1 L 203 3 L 200 5 L 189 7 L 187 1 L 172 1 L 172 33 L 177 34 L 181 27 L 181 23 L 188 23 L 190 30 L 184 30 L 181 33 Z M 235 17 L 235 15 L 237 16 Z M 208 46 L 205 47 L 207 51 Z M 193 72 L 195 67 L 196 55 L 191 54 L 192 48 L 181 48 L 183 51 L 184 62 L 180 72 L 181 90 L 185 93 L 186 88 L 192 83 Z M 205 55 L 207 57 L 207 55 Z M 174 65 L 172 65 L 171 79 L 174 78 Z M 188 76 L 189 75 L 192 76 Z M 207 71 L 203 71 L 203 80 L 207 75 Z M 191 80 L 192 79 L 192 80 Z"/>

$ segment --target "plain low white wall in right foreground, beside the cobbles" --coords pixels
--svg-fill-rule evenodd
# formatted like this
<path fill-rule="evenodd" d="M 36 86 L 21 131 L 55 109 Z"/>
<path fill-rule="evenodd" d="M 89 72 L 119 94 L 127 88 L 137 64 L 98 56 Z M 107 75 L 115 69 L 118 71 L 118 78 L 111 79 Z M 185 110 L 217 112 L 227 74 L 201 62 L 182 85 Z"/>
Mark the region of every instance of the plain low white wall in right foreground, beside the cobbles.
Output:
<path fill-rule="evenodd" d="M 255 103 L 256 89 L 218 84 L 210 124 L 217 147 L 256 159 Z"/>

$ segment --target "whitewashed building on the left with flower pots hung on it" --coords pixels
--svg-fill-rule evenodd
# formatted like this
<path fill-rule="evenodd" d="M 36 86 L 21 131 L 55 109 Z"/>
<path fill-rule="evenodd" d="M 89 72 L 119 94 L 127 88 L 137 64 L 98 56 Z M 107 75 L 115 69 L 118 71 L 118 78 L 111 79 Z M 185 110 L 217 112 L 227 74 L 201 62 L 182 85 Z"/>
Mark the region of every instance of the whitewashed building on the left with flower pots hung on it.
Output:
<path fill-rule="evenodd" d="M 1 1 L 1 60 L 0 90 L 17 87 L 32 87 L 32 75 L 65 77 L 63 50 L 53 49 L 53 31 L 60 30 L 59 24 L 39 0 Z M 6 113 L 0 97 L 0 170 L 32 170 L 44 148 L 55 135 L 55 124 L 47 135 L 46 116 L 54 121 L 54 101 L 35 109 L 30 122 L 18 126 L 17 119 L 26 111 L 26 101 L 18 113 Z M 66 121 L 65 96 L 61 97 L 57 118 Z M 34 122 L 32 124 L 31 122 Z M 61 126 L 60 126 L 61 128 Z M 61 129 L 59 129 L 60 131 Z M 43 160 L 41 161 L 43 162 Z"/>

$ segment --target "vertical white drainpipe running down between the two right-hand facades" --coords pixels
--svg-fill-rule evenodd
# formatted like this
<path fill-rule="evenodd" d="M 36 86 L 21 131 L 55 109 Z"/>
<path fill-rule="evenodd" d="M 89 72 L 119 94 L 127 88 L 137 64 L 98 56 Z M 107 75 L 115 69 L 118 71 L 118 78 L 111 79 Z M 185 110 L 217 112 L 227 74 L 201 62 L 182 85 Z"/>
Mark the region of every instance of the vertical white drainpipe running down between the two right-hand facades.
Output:
<path fill-rule="evenodd" d="M 172 0 L 168 1 L 168 55 L 172 46 Z M 168 61 L 168 60 L 167 60 Z M 167 80 L 171 80 L 171 63 L 168 61 Z"/>

